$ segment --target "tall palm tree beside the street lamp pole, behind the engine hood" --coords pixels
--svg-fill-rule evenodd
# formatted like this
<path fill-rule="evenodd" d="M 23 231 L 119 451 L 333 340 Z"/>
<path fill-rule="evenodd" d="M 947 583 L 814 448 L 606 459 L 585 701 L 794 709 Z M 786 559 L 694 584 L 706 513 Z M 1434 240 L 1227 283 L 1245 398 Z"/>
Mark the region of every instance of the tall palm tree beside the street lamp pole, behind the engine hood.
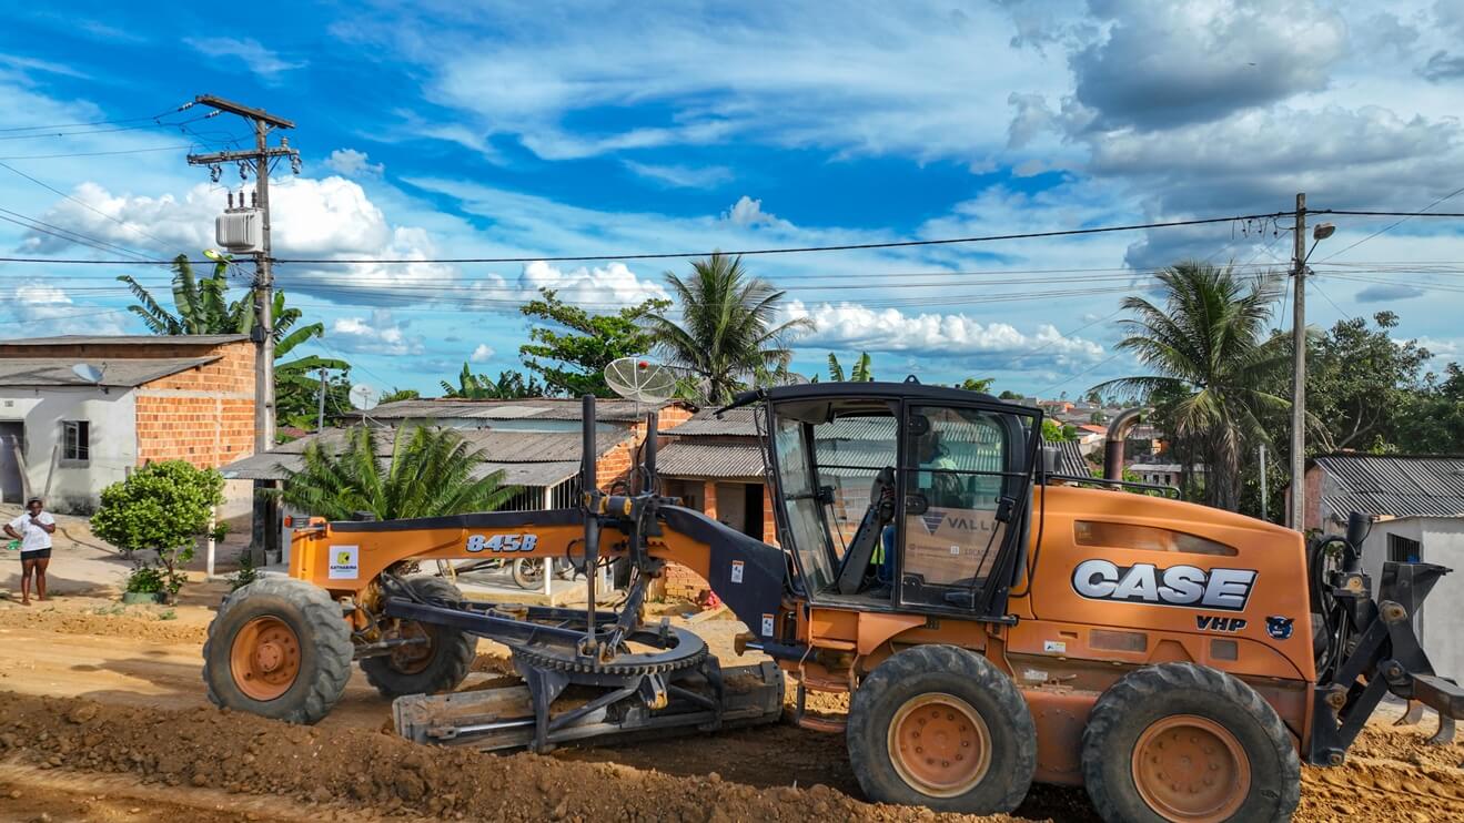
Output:
<path fill-rule="evenodd" d="M 1261 420 L 1290 403 L 1263 387 L 1288 361 L 1284 338 L 1265 333 L 1278 289 L 1274 278 L 1241 279 L 1231 266 L 1186 260 L 1158 275 L 1162 306 L 1127 297 L 1133 317 L 1118 348 L 1155 371 L 1094 386 L 1158 406 L 1181 463 L 1206 465 L 1205 501 L 1234 512 L 1240 463 L 1252 443 L 1266 443 Z"/>

